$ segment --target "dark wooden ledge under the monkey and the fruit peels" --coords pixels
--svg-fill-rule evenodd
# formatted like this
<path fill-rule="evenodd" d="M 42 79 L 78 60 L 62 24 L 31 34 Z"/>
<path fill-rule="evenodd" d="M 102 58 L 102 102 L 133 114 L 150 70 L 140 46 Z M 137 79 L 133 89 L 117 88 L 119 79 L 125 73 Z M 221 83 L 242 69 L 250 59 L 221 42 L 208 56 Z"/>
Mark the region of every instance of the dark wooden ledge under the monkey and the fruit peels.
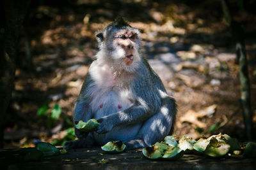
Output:
<path fill-rule="evenodd" d="M 40 161 L 24 161 L 33 148 L 1 150 L 0 165 L 4 169 L 253 169 L 255 159 L 241 155 L 212 159 L 202 155 L 184 155 L 179 160 L 146 159 L 141 150 L 109 154 L 100 148 L 70 150 L 65 154 L 44 157 Z M 99 163 L 105 159 L 106 164 Z M 3 161 L 4 160 L 4 161 Z"/>

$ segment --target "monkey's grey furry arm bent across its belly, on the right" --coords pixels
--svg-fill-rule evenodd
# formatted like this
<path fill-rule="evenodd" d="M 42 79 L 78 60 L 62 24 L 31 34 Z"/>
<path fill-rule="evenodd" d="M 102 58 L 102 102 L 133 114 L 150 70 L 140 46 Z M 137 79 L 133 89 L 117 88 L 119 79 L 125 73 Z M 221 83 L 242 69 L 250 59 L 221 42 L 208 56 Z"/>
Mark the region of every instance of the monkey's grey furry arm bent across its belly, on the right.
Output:
<path fill-rule="evenodd" d="M 136 124 L 138 122 L 144 122 L 148 118 L 152 117 L 157 110 L 161 107 L 161 99 L 157 95 L 154 87 L 143 88 L 140 87 L 140 83 L 136 83 L 137 88 L 133 91 L 136 96 L 132 106 L 123 111 L 118 111 L 106 117 L 99 119 L 101 124 L 98 127 L 98 133 L 106 133 L 111 131 L 113 127 L 118 125 Z"/>

